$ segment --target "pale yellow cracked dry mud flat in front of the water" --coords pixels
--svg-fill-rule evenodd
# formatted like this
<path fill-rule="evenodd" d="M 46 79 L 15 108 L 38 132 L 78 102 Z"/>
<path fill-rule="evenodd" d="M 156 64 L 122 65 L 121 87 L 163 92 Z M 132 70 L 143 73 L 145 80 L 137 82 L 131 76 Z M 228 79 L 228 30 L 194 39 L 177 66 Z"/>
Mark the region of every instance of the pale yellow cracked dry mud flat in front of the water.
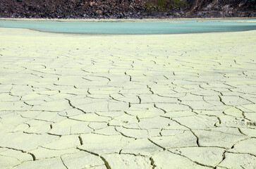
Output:
<path fill-rule="evenodd" d="M 0 30 L 0 168 L 255 168 L 256 31 Z"/>

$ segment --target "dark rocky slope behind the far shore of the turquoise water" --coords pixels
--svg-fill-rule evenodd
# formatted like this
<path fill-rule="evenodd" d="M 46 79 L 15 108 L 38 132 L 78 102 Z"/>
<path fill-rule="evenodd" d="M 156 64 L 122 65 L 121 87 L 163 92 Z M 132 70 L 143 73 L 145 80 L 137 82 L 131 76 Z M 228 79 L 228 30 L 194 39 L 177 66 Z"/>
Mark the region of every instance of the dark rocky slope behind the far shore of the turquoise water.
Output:
<path fill-rule="evenodd" d="M 0 18 L 255 17 L 256 0 L 0 0 Z"/>

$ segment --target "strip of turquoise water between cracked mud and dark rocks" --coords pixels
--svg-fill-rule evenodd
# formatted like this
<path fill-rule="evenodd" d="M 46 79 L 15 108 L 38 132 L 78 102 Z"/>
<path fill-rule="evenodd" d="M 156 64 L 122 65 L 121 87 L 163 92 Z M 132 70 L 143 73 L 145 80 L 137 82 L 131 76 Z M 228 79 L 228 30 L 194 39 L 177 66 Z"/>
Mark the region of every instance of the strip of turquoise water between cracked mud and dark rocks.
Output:
<path fill-rule="evenodd" d="M 85 22 L 0 20 L 0 27 L 18 27 L 43 32 L 83 34 L 183 34 L 199 32 L 234 32 L 256 30 L 252 20 L 170 20 L 150 22 Z"/>

